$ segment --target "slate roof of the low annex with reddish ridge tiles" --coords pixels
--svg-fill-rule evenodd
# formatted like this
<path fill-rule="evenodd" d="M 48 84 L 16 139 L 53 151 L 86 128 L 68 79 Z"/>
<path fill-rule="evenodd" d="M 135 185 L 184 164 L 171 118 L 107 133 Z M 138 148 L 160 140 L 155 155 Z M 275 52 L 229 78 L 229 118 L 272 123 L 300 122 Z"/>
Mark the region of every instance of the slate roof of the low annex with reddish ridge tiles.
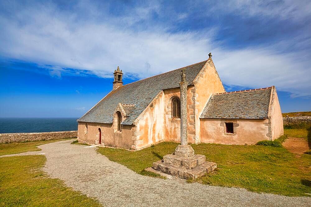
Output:
<path fill-rule="evenodd" d="M 200 118 L 266 119 L 272 87 L 213 94 Z"/>

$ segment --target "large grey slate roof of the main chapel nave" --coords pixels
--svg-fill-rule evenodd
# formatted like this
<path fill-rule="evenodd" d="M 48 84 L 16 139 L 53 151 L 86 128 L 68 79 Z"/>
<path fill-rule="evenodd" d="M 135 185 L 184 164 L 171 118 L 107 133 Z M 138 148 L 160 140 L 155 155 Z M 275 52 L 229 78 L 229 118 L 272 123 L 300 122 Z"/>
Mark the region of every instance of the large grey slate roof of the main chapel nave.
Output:
<path fill-rule="evenodd" d="M 193 80 L 206 62 L 207 60 L 183 67 L 186 68 L 188 85 L 193 84 Z M 111 124 L 114 111 L 118 103 L 121 103 L 134 105 L 131 107 L 131 115 L 122 122 L 125 125 L 133 124 L 161 90 L 179 87 L 180 69 L 129 83 L 110 92 L 78 121 Z"/>

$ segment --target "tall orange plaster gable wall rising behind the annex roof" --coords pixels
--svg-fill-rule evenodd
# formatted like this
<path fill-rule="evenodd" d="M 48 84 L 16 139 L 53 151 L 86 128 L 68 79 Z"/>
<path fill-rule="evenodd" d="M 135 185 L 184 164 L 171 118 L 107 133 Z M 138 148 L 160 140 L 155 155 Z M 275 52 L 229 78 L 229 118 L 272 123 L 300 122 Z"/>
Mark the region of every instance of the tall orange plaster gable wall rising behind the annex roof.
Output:
<path fill-rule="evenodd" d="M 195 143 L 200 143 L 201 135 L 199 117 L 212 93 L 225 92 L 225 88 L 222 85 L 215 65 L 211 59 L 206 62 L 201 72 L 194 80 L 194 88 L 192 92 L 193 106 L 191 107 L 195 110 L 195 121 L 193 126 L 193 129 L 195 130 Z"/>

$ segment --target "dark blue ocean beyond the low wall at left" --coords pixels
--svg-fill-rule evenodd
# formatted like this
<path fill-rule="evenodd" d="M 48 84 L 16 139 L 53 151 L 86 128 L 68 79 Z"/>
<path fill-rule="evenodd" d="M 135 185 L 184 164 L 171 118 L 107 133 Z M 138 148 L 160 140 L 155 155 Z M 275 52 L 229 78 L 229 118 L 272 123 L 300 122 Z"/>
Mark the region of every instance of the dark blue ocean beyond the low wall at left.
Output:
<path fill-rule="evenodd" d="M 0 118 L 0 133 L 58 132 L 78 129 L 78 118 Z"/>

